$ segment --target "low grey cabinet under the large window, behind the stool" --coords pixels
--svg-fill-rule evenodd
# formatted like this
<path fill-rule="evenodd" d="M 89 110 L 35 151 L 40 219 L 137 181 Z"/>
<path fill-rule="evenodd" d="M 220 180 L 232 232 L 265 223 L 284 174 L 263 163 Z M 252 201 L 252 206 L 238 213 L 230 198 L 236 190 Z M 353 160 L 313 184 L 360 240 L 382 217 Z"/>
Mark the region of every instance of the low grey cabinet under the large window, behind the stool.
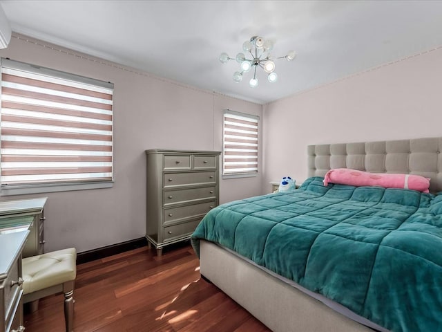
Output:
<path fill-rule="evenodd" d="M 29 230 L 23 257 L 44 253 L 44 205 L 47 197 L 0 201 L 0 234 L 12 230 Z"/>

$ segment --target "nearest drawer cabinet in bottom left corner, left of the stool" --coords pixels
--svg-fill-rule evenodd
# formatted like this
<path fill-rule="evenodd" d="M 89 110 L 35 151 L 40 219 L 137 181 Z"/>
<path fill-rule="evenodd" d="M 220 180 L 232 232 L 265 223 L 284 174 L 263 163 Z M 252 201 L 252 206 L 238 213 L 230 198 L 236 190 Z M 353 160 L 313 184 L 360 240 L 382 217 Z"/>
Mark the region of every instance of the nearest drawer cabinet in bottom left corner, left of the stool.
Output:
<path fill-rule="evenodd" d="M 0 234 L 0 332 L 24 331 L 21 253 L 28 234 L 28 230 Z"/>

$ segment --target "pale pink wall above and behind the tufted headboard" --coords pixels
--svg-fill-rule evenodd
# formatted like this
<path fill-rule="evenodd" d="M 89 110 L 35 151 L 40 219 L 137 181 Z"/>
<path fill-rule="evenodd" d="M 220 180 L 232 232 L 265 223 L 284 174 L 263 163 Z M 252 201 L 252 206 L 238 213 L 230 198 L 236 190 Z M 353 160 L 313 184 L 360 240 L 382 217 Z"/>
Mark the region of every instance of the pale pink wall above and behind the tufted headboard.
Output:
<path fill-rule="evenodd" d="M 442 136 L 442 48 L 264 107 L 264 174 L 307 177 L 307 145 Z"/>

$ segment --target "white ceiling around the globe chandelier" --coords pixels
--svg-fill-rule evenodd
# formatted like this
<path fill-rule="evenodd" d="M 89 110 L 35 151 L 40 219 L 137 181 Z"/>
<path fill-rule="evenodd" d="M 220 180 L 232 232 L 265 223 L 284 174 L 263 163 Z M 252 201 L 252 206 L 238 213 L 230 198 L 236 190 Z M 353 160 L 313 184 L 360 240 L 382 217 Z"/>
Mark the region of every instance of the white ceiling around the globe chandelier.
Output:
<path fill-rule="evenodd" d="M 442 1 L 0 0 L 13 31 L 160 77 L 271 102 L 442 46 Z M 272 39 L 278 82 L 218 61 Z"/>

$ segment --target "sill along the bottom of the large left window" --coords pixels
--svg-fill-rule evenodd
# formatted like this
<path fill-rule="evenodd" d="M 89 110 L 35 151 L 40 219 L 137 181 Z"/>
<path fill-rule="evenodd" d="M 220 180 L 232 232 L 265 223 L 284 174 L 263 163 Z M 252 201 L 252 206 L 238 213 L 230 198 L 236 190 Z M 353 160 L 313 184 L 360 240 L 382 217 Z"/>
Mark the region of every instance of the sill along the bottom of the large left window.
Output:
<path fill-rule="evenodd" d="M 57 185 L 16 185 L 14 187 L 1 188 L 0 196 L 42 194 L 45 192 L 72 192 L 75 190 L 93 190 L 111 187 L 113 187 L 113 181 L 99 183 L 66 183 Z"/>

